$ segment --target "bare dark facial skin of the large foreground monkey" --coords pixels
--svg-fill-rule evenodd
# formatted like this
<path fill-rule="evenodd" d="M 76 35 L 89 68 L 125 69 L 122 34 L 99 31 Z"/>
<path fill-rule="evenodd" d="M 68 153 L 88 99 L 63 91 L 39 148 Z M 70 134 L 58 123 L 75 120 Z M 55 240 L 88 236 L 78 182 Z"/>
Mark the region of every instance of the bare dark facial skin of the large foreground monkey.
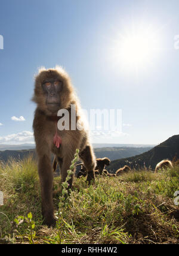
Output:
<path fill-rule="evenodd" d="M 42 89 L 45 93 L 45 103 L 48 110 L 57 112 L 60 109 L 60 92 L 63 89 L 63 82 L 58 77 L 47 78 L 42 82 Z"/>

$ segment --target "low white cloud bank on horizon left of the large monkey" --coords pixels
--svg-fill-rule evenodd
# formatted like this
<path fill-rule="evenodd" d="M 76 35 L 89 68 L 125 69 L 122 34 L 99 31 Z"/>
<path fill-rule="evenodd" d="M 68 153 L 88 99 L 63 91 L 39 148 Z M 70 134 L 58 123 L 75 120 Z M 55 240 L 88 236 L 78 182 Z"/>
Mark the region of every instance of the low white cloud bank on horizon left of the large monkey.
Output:
<path fill-rule="evenodd" d="M 10 134 L 4 137 L 0 137 L 0 143 L 33 143 L 33 132 L 31 131 L 22 131 L 17 134 Z"/>

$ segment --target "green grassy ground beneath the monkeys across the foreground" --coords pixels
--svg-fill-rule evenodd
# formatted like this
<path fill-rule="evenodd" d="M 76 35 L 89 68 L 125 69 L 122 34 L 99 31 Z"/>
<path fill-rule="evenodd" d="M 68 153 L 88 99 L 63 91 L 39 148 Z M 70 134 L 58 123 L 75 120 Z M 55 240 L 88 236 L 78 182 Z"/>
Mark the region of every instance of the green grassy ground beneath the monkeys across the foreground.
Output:
<path fill-rule="evenodd" d="M 59 182 L 55 177 L 54 187 Z M 0 165 L 0 243 L 178 243 L 177 190 L 178 167 L 158 174 L 133 170 L 97 177 L 90 186 L 84 177 L 75 178 L 62 209 L 54 198 L 58 221 L 52 229 L 42 225 L 36 162 L 32 157 L 18 163 L 11 159 Z"/>

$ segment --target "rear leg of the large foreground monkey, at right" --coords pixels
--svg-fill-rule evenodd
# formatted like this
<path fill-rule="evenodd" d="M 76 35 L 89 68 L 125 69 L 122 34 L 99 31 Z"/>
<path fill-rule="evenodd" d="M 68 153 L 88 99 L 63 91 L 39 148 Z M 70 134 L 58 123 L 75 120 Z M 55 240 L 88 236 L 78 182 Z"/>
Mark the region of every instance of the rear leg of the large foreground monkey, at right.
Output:
<path fill-rule="evenodd" d="M 87 182 L 90 184 L 95 181 L 94 168 L 96 165 L 94 152 L 92 151 L 91 146 L 86 146 L 79 156 L 84 162 L 85 168 L 87 168 Z"/>

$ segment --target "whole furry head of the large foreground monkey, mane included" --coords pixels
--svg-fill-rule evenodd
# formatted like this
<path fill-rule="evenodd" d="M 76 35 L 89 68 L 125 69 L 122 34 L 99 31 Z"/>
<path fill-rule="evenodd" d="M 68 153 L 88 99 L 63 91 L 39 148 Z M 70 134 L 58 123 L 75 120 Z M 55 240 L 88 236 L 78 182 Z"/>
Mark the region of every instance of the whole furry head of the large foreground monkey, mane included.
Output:
<path fill-rule="evenodd" d="M 39 71 L 35 79 L 32 100 L 46 115 L 57 115 L 58 110 L 67 109 L 73 99 L 73 87 L 67 73 L 61 68 Z"/>

